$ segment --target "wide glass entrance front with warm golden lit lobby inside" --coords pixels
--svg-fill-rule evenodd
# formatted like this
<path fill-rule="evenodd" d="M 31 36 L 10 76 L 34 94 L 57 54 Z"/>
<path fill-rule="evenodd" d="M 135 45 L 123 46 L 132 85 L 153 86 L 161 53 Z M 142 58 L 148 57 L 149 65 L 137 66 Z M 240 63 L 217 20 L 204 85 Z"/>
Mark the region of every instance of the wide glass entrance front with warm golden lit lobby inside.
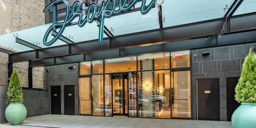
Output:
<path fill-rule="evenodd" d="M 190 119 L 190 52 L 80 63 L 80 114 Z"/>

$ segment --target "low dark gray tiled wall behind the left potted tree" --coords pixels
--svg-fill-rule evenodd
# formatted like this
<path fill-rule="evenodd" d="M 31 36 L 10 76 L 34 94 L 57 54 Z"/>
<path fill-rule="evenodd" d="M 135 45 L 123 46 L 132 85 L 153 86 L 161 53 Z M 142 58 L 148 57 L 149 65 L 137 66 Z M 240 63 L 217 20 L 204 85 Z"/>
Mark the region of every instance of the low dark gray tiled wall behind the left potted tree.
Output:
<path fill-rule="evenodd" d="M 4 111 L 6 104 L 7 86 L 0 86 L 0 123 L 6 122 Z M 49 91 L 23 89 L 24 106 L 27 109 L 27 117 L 50 114 Z"/>

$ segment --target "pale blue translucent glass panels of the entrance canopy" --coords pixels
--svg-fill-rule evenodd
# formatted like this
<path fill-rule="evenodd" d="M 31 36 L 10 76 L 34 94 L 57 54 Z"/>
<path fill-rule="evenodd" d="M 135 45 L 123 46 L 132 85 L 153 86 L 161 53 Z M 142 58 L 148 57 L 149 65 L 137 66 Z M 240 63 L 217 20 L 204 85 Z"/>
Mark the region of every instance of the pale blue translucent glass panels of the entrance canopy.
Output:
<path fill-rule="evenodd" d="M 147 1 L 148 2 L 148 1 Z M 113 16 L 105 20 L 105 26 L 112 35 L 119 36 L 134 32 L 149 31 L 159 29 L 159 18 L 162 18 L 163 27 L 178 26 L 192 22 L 205 21 L 224 17 L 234 0 L 159 0 L 154 9 L 147 14 L 142 15 L 140 11 L 132 11 L 126 14 Z M 159 15 L 159 9 L 162 6 L 162 17 Z M 256 11 L 256 0 L 245 0 L 235 11 L 234 15 L 244 14 Z M 135 5 L 140 7 L 140 2 Z M 51 24 L 32 27 L 17 32 L 11 32 L 0 36 L 0 47 L 14 52 L 23 52 L 33 50 L 16 42 L 16 37 L 36 46 L 45 48 L 42 39 L 46 30 Z M 82 42 L 98 39 L 99 27 L 96 22 L 87 23 L 84 27 L 72 25 L 66 27 L 62 36 L 72 42 Z M 53 36 L 49 36 L 52 39 Z M 107 37 L 104 34 L 104 37 Z M 52 46 L 64 45 L 66 42 L 58 39 Z M 52 47 L 49 46 L 49 47 Z"/>

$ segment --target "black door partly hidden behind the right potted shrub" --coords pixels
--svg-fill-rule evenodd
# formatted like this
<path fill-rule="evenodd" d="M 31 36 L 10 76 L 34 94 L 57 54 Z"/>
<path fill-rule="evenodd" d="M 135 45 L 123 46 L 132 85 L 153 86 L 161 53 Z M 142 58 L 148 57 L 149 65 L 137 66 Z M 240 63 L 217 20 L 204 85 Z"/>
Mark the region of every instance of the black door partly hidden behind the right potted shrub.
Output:
<path fill-rule="evenodd" d="M 239 77 L 227 78 L 227 121 L 231 121 L 231 117 L 235 109 L 240 104 L 235 101 L 235 86 L 239 82 Z"/>

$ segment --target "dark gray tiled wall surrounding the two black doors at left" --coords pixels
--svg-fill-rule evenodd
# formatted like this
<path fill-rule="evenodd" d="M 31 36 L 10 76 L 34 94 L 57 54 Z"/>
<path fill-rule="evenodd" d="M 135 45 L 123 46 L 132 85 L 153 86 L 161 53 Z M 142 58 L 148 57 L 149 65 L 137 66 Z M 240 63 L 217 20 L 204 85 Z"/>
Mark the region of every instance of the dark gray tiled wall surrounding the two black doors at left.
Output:
<path fill-rule="evenodd" d="M 75 66 L 76 69 L 69 69 L 69 66 Z M 76 114 L 79 115 L 79 96 L 78 96 L 78 71 L 79 64 L 64 64 L 45 67 L 49 73 L 45 73 L 46 90 L 51 91 L 51 86 L 61 86 L 61 114 L 64 114 L 64 86 L 76 85 Z"/>

